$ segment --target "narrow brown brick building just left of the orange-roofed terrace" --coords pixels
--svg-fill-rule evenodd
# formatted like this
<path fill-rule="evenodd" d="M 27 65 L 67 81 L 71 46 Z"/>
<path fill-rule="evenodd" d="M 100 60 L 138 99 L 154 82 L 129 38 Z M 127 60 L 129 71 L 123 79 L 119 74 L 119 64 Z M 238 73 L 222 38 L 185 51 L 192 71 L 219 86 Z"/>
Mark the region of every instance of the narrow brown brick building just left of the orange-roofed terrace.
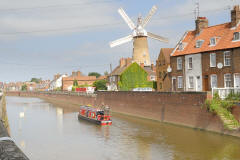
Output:
<path fill-rule="evenodd" d="M 174 48 L 162 48 L 156 61 L 157 91 L 171 91 L 171 77 L 167 69 L 170 66 L 170 54 Z"/>

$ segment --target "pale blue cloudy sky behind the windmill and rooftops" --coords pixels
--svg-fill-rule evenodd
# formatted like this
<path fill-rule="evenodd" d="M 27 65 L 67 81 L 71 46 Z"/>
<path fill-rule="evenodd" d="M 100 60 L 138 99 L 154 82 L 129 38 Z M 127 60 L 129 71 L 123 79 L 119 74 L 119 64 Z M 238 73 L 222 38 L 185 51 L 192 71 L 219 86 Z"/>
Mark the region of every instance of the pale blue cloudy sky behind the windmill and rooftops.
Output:
<path fill-rule="evenodd" d="M 169 38 L 148 39 L 151 61 L 161 48 L 174 48 L 187 30 L 194 30 L 197 0 L 0 0 L 0 81 L 53 79 L 54 74 L 80 70 L 110 72 L 121 57 L 132 57 L 132 42 L 109 42 L 132 33 L 118 14 L 122 7 L 136 22 L 151 7 L 158 10 L 146 30 Z M 199 0 L 200 16 L 209 25 L 230 22 L 230 9 L 240 0 Z"/>

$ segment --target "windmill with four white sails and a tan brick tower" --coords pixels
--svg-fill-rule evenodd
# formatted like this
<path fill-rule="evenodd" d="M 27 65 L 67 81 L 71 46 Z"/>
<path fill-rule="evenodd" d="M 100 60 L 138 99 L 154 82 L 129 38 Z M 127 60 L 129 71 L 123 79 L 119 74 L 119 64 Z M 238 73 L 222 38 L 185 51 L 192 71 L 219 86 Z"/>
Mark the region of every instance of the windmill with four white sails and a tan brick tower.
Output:
<path fill-rule="evenodd" d="M 147 38 L 149 37 L 158 41 L 168 42 L 167 38 L 147 32 L 144 29 L 156 11 L 157 7 L 154 5 L 144 20 L 142 20 L 141 16 L 138 17 L 137 24 L 135 25 L 122 8 L 118 9 L 118 13 L 122 16 L 133 32 L 126 37 L 110 42 L 110 47 L 112 48 L 133 41 L 133 61 L 138 64 L 143 63 L 144 66 L 150 66 L 151 61 L 148 51 Z"/>

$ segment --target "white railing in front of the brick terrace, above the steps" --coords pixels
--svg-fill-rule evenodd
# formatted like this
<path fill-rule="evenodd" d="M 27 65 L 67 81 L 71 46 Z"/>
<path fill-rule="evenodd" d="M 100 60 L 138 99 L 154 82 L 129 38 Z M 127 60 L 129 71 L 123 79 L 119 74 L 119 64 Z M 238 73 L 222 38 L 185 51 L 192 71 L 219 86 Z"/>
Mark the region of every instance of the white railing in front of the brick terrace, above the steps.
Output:
<path fill-rule="evenodd" d="M 212 96 L 214 96 L 215 93 L 218 93 L 219 97 L 221 99 L 225 99 L 227 98 L 227 96 L 230 94 L 230 93 L 240 93 L 240 88 L 233 88 L 233 87 L 230 87 L 230 88 L 212 88 Z"/>

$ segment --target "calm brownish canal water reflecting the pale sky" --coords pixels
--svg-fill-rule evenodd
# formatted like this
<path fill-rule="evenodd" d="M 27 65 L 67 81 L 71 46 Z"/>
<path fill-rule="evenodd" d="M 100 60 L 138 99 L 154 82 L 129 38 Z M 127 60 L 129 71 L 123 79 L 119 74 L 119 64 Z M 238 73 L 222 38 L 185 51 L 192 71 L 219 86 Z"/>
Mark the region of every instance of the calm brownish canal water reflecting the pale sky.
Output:
<path fill-rule="evenodd" d="M 41 99 L 7 97 L 11 136 L 31 160 L 239 160 L 240 139 L 113 114 L 112 126 Z"/>

